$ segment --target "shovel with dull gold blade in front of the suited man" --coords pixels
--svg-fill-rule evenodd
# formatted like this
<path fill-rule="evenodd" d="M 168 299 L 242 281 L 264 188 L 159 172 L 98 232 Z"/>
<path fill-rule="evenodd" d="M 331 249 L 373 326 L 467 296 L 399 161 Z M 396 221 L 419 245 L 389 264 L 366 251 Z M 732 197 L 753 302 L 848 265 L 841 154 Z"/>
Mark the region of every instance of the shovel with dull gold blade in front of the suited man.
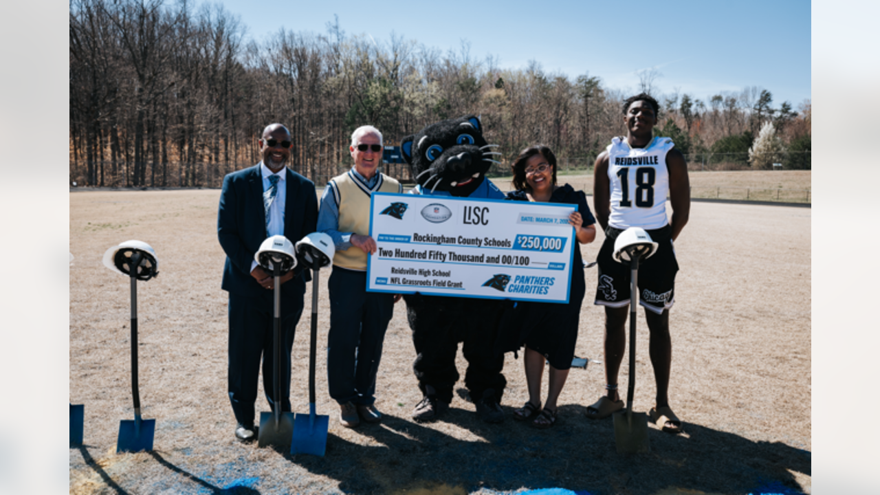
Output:
<path fill-rule="evenodd" d="M 274 382 L 272 412 L 260 412 L 260 433 L 257 445 L 260 447 L 279 447 L 286 451 L 290 447 L 290 439 L 293 437 L 293 413 L 282 412 L 284 399 L 282 397 L 282 372 L 281 363 L 284 357 L 284 339 L 281 335 L 281 260 L 274 259 L 272 263 L 273 276 L 275 277 L 275 321 L 273 321 L 273 333 L 275 351 Z M 286 362 L 286 360 L 285 360 Z"/>

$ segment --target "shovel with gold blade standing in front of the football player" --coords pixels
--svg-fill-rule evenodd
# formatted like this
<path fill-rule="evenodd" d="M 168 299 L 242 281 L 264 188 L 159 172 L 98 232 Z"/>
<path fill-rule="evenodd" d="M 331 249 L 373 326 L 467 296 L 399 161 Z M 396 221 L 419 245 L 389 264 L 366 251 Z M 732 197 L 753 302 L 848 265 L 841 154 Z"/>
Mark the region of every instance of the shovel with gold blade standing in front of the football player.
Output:
<path fill-rule="evenodd" d="M 637 454 L 650 452 L 648 441 L 648 415 L 633 412 L 635 392 L 635 308 L 639 306 L 639 290 L 636 285 L 639 275 L 639 259 L 642 257 L 634 249 L 630 252 L 629 267 L 632 270 L 629 284 L 629 386 L 627 387 L 627 410 L 614 413 L 614 440 L 618 454 Z"/>

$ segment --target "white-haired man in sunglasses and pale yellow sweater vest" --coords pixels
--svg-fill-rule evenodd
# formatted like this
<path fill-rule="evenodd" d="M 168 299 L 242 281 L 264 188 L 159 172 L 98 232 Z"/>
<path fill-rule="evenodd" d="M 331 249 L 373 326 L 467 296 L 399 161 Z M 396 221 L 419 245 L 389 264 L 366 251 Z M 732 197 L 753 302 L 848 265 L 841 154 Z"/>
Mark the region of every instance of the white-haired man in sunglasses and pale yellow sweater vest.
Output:
<path fill-rule="evenodd" d="M 400 296 L 367 292 L 367 256 L 376 252 L 370 238 L 370 195 L 401 193 L 400 182 L 378 173 L 382 133 L 363 126 L 351 135 L 348 151 L 355 165 L 334 177 L 321 196 L 319 232 L 333 238 L 336 254 L 330 291 L 330 333 L 327 336 L 327 383 L 340 405 L 340 423 L 354 428 L 361 420 L 378 423 L 376 372 L 382 357 L 385 329 Z"/>

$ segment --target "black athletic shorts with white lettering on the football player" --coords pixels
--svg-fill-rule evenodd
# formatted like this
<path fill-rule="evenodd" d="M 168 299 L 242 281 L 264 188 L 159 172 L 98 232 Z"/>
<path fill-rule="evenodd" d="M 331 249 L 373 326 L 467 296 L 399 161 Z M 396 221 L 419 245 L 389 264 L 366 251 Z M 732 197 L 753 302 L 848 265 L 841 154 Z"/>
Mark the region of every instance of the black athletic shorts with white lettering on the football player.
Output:
<path fill-rule="evenodd" d="M 629 262 L 626 264 L 614 261 L 614 240 L 620 229 L 609 226 L 605 229 L 605 242 L 599 249 L 598 284 L 596 287 L 596 304 L 608 307 L 626 307 L 629 305 Z M 646 231 L 651 240 L 657 243 L 657 252 L 647 260 L 639 263 L 639 304 L 662 314 L 675 302 L 675 274 L 678 262 L 672 247 L 672 229 L 663 228 Z"/>

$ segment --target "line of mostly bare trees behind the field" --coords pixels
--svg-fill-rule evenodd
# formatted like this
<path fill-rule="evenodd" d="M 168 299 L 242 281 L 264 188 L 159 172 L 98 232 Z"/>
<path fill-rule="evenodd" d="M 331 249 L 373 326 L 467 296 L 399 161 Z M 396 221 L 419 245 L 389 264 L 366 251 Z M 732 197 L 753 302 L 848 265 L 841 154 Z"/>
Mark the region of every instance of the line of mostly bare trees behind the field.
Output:
<path fill-rule="evenodd" d="M 430 122 L 480 115 L 501 161 L 544 143 L 576 166 L 625 132 L 629 95 L 598 76 L 538 62 L 504 69 L 475 59 L 466 42 L 443 53 L 394 34 L 375 41 L 338 19 L 324 33 L 282 29 L 254 41 L 220 4 L 165 0 L 72 0 L 69 31 L 70 180 L 80 185 L 216 187 L 260 160 L 270 122 L 290 128 L 292 168 L 319 185 L 350 166 L 350 134 L 368 123 L 397 144 Z M 809 149 L 809 100 L 774 108 L 757 86 L 708 101 L 656 94 L 658 77 L 643 72 L 634 84 L 661 101 L 657 132 L 686 154 L 747 161 L 766 122 L 787 150 L 804 139 Z M 406 166 L 385 167 L 409 178 Z"/>

